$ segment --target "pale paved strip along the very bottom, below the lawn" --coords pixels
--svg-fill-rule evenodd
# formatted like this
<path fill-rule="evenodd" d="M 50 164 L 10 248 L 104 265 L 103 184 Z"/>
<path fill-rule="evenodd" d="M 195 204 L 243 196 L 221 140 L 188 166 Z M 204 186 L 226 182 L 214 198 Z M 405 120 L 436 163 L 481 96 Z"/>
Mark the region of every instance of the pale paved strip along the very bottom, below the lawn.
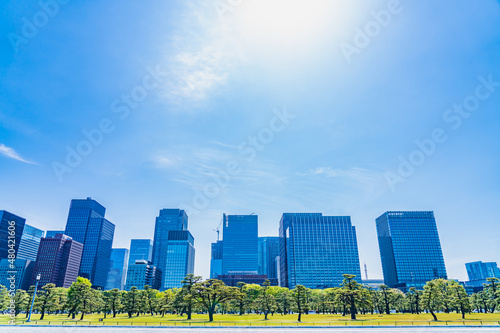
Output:
<path fill-rule="evenodd" d="M 387 328 L 196 328 L 196 327 L 185 327 L 185 328 L 139 328 L 139 327 L 20 327 L 20 326 L 0 326 L 0 332 L 12 332 L 12 333 L 97 333 L 97 332 L 110 332 L 110 333 L 126 333 L 133 331 L 134 333 L 157 333 L 157 332 L 168 332 L 168 333 L 186 333 L 188 331 L 202 332 L 202 333 L 230 333 L 230 332 L 241 332 L 241 333 L 309 333 L 314 331 L 315 333 L 357 333 L 366 332 L 370 333 L 399 333 L 399 332 L 409 332 L 409 333 L 493 333 L 500 332 L 499 327 L 387 327 Z"/>

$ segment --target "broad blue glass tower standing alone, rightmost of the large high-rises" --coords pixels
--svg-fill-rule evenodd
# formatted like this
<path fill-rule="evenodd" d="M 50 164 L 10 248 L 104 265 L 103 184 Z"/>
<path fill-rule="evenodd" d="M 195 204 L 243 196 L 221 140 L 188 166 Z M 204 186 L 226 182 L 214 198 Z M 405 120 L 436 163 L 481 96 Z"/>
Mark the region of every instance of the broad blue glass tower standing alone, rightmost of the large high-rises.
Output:
<path fill-rule="evenodd" d="M 434 212 L 386 212 L 376 224 L 386 285 L 406 291 L 447 278 Z"/>

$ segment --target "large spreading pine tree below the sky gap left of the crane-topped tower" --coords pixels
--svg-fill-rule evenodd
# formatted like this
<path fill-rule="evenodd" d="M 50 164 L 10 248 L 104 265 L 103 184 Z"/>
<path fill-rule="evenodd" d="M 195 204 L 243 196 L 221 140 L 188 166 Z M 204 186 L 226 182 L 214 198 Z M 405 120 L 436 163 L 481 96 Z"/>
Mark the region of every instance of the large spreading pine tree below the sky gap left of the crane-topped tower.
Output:
<path fill-rule="evenodd" d="M 237 287 L 228 287 L 215 279 L 195 283 L 192 292 L 196 302 L 207 311 L 209 321 L 214 320 L 217 305 L 243 296 Z"/>

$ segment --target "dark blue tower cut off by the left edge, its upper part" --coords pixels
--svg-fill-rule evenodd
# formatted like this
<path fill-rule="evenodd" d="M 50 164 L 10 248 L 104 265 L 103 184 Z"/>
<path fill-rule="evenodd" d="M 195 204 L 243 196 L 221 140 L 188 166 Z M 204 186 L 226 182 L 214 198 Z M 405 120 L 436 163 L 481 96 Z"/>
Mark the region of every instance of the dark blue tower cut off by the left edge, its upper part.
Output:
<path fill-rule="evenodd" d="M 8 211 L 0 210 L 0 259 L 15 259 L 25 223 L 26 219 Z M 9 239 L 15 241 L 13 247 L 9 246 Z M 11 254 L 11 258 L 9 258 L 9 254 Z M 12 258 L 12 255 L 14 255 L 14 258 Z"/>

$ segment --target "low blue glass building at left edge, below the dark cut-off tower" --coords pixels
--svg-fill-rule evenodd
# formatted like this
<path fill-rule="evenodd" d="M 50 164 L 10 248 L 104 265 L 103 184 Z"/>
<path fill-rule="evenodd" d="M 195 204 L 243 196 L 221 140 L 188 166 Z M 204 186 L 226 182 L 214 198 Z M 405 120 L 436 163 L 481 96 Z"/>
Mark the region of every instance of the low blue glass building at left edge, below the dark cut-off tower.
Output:
<path fill-rule="evenodd" d="M 0 285 L 7 289 L 28 290 L 35 262 L 26 259 L 0 259 Z M 12 287 L 11 287 L 12 286 Z"/>

